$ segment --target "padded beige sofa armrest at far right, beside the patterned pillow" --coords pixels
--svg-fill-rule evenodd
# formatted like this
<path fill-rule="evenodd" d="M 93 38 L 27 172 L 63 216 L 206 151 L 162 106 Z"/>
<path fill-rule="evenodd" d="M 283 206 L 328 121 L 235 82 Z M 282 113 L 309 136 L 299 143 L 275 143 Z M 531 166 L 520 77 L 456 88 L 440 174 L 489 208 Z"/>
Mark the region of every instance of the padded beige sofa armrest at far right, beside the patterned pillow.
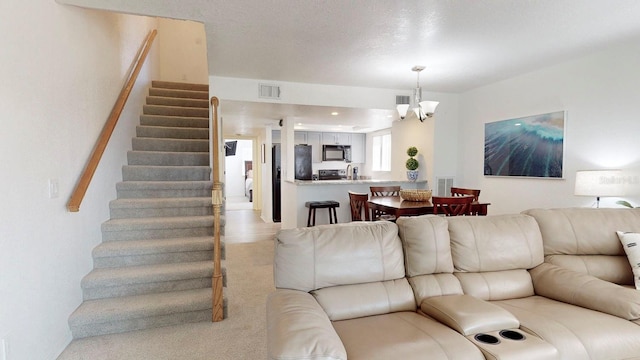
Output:
<path fill-rule="evenodd" d="M 627 320 L 640 318 L 640 291 L 543 263 L 529 270 L 537 295 Z"/>

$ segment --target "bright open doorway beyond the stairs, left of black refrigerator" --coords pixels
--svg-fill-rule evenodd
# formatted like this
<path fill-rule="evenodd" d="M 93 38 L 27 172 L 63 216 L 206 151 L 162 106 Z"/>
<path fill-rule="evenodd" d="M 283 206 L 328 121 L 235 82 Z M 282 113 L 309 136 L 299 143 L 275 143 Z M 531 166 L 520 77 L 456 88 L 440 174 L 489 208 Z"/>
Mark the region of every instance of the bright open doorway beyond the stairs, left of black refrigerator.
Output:
<path fill-rule="evenodd" d="M 225 139 L 226 210 L 253 210 L 253 141 Z"/>

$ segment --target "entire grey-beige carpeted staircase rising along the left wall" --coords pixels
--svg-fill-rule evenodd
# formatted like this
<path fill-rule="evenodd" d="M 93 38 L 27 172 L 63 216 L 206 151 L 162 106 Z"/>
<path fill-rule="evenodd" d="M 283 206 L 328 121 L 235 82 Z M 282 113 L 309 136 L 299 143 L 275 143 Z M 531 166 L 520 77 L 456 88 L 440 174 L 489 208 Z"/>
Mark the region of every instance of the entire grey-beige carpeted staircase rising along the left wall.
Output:
<path fill-rule="evenodd" d="M 154 81 L 146 102 L 69 317 L 74 339 L 211 321 L 208 86 Z"/>

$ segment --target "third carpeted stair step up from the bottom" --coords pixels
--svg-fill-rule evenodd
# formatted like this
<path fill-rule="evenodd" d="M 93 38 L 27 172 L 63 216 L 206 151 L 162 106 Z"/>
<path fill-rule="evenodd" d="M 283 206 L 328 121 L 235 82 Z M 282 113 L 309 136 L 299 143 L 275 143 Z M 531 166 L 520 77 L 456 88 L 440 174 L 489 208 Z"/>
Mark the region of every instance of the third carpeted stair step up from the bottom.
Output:
<path fill-rule="evenodd" d="M 225 259 L 225 244 L 220 244 Z M 213 237 L 103 242 L 93 249 L 95 268 L 153 265 L 213 259 Z"/>

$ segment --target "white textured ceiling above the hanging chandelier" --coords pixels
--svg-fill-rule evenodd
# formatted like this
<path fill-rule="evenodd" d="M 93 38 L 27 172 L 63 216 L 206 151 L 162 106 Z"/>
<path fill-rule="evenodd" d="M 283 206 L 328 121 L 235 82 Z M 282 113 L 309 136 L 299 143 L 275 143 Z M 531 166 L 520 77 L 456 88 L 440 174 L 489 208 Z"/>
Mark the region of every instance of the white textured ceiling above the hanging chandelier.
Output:
<path fill-rule="evenodd" d="M 215 76 L 410 89 L 424 65 L 423 90 L 449 93 L 640 39 L 637 0 L 58 1 L 202 21 Z M 227 109 L 277 113 L 249 105 Z"/>

